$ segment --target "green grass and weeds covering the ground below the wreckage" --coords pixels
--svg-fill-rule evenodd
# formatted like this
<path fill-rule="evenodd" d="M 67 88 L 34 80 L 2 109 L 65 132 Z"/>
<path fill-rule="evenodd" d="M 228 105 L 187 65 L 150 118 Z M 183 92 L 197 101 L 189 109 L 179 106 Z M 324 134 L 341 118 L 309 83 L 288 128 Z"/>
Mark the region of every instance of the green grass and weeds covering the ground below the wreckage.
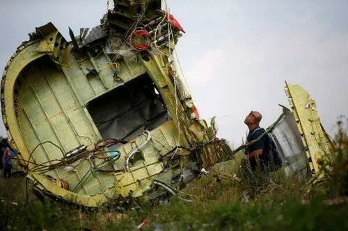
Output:
<path fill-rule="evenodd" d="M 333 156 L 338 156 L 340 162 L 345 161 L 347 149 L 343 147 Z M 236 160 L 226 164 L 227 173 L 240 176 L 241 157 L 239 154 Z M 139 202 L 141 209 L 119 214 L 106 208 L 83 210 L 54 200 L 45 200 L 45 203 L 36 200 L 29 205 L 11 205 L 6 200 L 0 203 L 0 223 L 3 230 L 45 228 L 49 231 L 136 230 L 145 219 L 150 224 L 143 230 L 348 230 L 347 204 L 329 206 L 323 203 L 333 195 L 344 194 L 342 187 L 347 189 L 347 182 L 342 182 L 345 179 L 342 174 L 347 174 L 346 165 L 326 164 L 332 167 L 327 173 L 326 184 L 321 185 L 322 190 L 313 190 L 310 194 L 305 194 L 306 182 L 296 176 L 285 178 L 281 171 L 272 173 L 256 191 L 251 190 L 244 179 L 241 182 L 216 182 L 212 176 L 205 176 L 183 190 L 193 196 L 191 203 L 173 196 L 157 203 Z M 216 166 L 219 168 L 221 166 Z M 340 171 L 337 168 L 341 168 Z M 339 176 L 336 176 L 337 172 Z M 12 201 L 25 197 L 21 192 L 25 191 L 24 181 L 11 179 L 6 185 L 6 190 L 1 190 L 1 197 L 7 195 Z M 334 185 L 338 185 L 340 191 Z M 335 194 L 330 187 L 335 189 Z M 308 205 L 302 205 L 302 199 L 308 200 Z"/>

